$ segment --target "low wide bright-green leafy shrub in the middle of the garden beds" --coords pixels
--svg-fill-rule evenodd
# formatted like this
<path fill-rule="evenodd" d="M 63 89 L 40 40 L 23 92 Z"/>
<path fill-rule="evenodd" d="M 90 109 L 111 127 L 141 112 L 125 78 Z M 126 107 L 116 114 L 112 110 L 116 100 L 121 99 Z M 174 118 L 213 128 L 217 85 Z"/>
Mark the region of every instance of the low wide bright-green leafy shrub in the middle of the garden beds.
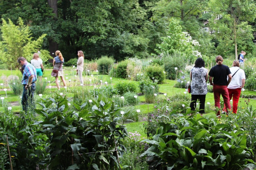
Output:
<path fill-rule="evenodd" d="M 115 89 L 117 90 L 117 93 L 120 95 L 123 95 L 126 92 L 136 92 L 137 91 L 137 85 L 130 81 L 119 81 L 115 85 Z"/>

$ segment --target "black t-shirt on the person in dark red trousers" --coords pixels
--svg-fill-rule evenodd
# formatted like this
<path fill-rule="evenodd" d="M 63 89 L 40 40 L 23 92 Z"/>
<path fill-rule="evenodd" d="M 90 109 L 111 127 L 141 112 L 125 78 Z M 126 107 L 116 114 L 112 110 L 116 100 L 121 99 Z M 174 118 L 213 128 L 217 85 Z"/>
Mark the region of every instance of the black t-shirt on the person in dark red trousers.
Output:
<path fill-rule="evenodd" d="M 226 65 L 215 65 L 211 68 L 209 76 L 213 77 L 213 84 L 227 85 L 227 76 L 231 74 L 230 69 Z"/>

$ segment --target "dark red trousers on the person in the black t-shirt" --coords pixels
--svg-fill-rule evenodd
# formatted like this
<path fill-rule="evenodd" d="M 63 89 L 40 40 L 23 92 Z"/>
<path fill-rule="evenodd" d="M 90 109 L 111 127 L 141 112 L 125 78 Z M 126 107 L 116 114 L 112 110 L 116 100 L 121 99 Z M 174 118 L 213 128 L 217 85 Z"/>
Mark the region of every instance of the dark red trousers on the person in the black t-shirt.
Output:
<path fill-rule="evenodd" d="M 213 95 L 214 95 L 215 107 L 220 108 L 220 95 L 222 95 L 222 98 L 224 100 L 224 105 L 229 110 L 231 110 L 227 86 L 213 84 Z M 227 111 L 227 113 L 228 113 L 228 111 Z M 218 115 L 220 115 L 220 111 L 218 111 L 217 116 Z"/>

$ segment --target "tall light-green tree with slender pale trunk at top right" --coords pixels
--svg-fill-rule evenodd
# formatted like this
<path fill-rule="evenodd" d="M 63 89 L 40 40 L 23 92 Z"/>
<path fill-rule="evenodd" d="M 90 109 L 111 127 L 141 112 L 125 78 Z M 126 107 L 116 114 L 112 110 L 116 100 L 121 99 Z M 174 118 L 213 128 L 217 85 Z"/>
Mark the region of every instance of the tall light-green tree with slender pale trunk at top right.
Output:
<path fill-rule="evenodd" d="M 253 29 L 248 22 L 256 18 L 255 3 L 252 0 L 210 0 L 212 18 L 210 27 L 218 40 L 218 52 L 238 56 L 238 42 L 248 41 L 242 50 L 252 51 Z"/>

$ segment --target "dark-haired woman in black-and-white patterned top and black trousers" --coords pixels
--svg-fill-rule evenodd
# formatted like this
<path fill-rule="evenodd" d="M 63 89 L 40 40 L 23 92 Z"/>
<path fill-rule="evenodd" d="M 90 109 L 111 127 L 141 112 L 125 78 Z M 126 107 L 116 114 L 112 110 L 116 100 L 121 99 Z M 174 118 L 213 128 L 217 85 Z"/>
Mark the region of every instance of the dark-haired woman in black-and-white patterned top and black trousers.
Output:
<path fill-rule="evenodd" d="M 199 101 L 199 113 L 202 116 L 205 113 L 205 96 L 207 94 L 208 72 L 205 68 L 205 61 L 198 58 L 195 66 L 190 71 L 191 80 L 191 111 L 195 111 L 197 100 Z M 190 115 L 192 115 L 191 113 Z"/>

